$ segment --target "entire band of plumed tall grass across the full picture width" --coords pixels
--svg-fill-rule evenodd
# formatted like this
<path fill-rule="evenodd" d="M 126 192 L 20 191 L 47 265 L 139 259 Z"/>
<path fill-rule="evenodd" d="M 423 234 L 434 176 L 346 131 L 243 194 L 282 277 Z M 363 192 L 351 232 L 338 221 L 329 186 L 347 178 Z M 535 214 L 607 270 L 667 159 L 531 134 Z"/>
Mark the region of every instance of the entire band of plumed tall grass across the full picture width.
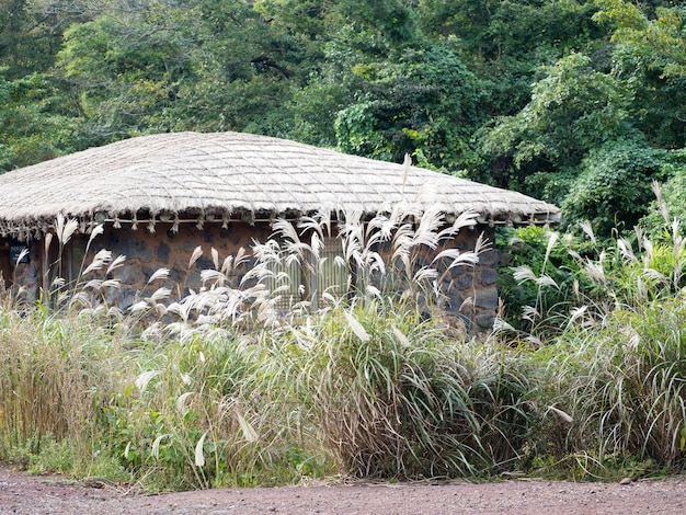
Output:
<path fill-rule="evenodd" d="M 348 214 L 338 230 L 323 215 L 279 220 L 271 242 L 209 249 L 213 268 L 182 299 L 156 272 L 128 310 L 104 304 L 119 287 L 107 271 L 125 262 L 91 255 L 70 287 L 52 278 L 49 302 L 0 311 L 0 459 L 158 490 L 681 470 L 678 225 L 660 243 L 639 231 L 603 245 L 590 227 L 583 250 L 546 237 L 536 263 L 515 270 L 534 286 L 525 322 L 501 320 L 485 341 L 426 318 L 442 275 L 479 260 L 482 241 L 444 245 L 472 225 L 400 211 Z M 64 245 L 70 226 L 58 227 Z M 284 313 L 281 264 L 316 275 L 332 237 L 350 293 Z M 562 283 L 571 291 L 554 294 Z"/>

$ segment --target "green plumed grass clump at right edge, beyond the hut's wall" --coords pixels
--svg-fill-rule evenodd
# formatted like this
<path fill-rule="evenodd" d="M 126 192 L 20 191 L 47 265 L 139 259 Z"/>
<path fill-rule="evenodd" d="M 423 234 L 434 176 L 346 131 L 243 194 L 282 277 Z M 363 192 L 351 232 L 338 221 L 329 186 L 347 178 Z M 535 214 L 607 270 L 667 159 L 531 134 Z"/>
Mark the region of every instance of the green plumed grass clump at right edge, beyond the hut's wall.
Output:
<path fill-rule="evenodd" d="M 576 473 L 603 476 L 628 462 L 650 464 L 643 472 L 685 465 L 686 244 L 678 221 L 665 215 L 664 222 L 660 243 L 637 229 L 606 247 L 584 226 L 584 253 L 568 248 L 574 297 L 530 324 L 528 335 L 500 325 L 506 337 L 536 343 L 542 403 L 564 414 L 541 427 L 537 445 L 560 460 L 591 458 L 593 466 Z M 539 289 L 557 287 L 530 268 L 517 272 Z"/>

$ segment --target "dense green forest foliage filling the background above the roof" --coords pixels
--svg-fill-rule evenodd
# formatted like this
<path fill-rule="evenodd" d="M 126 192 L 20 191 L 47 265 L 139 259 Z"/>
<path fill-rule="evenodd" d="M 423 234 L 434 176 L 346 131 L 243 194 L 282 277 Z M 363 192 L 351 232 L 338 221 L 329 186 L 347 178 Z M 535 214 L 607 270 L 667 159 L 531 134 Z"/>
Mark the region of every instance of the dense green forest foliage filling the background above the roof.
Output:
<path fill-rule="evenodd" d="M 7 0 L 0 170 L 252 131 L 411 153 L 606 237 L 650 210 L 634 184 L 686 173 L 685 16 L 660 0 Z"/>

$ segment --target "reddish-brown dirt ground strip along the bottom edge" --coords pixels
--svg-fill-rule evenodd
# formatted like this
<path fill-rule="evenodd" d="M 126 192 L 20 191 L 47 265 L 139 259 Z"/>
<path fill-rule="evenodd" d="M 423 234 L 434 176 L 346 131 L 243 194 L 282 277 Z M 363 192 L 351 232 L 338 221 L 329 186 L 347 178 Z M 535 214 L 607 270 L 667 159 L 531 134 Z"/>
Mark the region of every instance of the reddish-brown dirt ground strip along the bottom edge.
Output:
<path fill-rule="evenodd" d="M 146 495 L 0 465 L 0 514 L 685 514 L 686 477 L 630 484 L 506 481 L 226 489 Z"/>

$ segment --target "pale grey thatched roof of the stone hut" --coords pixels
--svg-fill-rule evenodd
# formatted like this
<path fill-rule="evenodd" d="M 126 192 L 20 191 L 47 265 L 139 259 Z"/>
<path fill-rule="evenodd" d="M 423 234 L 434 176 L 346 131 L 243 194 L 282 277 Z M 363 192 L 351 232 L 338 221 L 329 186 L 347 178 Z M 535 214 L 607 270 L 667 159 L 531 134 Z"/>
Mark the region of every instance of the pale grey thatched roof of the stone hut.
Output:
<path fill-rule="evenodd" d="M 405 173 L 407 172 L 407 173 Z M 405 176 L 407 175 L 407 176 Z M 559 209 L 525 195 L 420 168 L 238 133 L 142 136 L 0 175 L 0 233 L 39 237 L 55 217 L 225 220 L 404 203 L 483 220 L 554 222 Z M 150 222 L 152 220 L 152 222 Z"/>

